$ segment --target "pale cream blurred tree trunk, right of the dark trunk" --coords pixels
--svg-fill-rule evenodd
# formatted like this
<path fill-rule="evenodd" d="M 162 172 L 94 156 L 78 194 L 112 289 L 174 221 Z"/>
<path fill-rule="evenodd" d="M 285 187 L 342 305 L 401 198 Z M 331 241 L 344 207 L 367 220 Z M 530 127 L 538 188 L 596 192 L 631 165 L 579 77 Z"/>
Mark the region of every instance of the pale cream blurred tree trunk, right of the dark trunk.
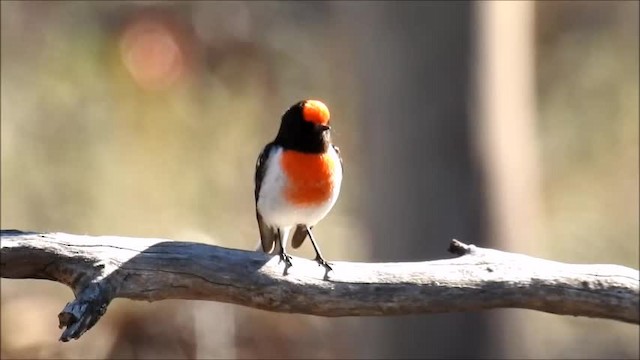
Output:
<path fill-rule="evenodd" d="M 536 139 L 534 3 L 479 2 L 475 141 L 487 193 L 488 236 L 500 248 L 542 256 L 540 171 Z M 544 315 L 492 314 L 507 358 L 544 357 L 532 325 Z M 527 324 L 523 326 L 523 324 Z"/>

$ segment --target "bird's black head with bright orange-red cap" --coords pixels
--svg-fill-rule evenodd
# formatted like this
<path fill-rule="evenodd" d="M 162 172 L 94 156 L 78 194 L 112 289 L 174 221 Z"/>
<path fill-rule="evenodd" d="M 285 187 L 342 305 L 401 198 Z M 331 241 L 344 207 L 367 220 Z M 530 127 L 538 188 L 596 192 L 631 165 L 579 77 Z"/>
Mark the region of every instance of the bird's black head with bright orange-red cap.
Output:
<path fill-rule="evenodd" d="M 329 122 L 325 104 L 318 100 L 300 101 L 282 115 L 274 142 L 288 150 L 323 153 L 331 143 Z"/>

